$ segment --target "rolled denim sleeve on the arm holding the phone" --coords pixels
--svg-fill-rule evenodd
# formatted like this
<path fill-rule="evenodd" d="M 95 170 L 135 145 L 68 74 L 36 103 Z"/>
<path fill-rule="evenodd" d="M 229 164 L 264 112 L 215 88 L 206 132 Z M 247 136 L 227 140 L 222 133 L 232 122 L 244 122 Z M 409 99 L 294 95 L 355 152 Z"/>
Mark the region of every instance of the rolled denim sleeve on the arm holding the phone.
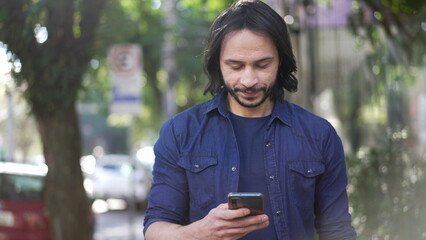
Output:
<path fill-rule="evenodd" d="M 176 139 L 172 119 L 163 125 L 154 145 L 153 183 L 144 218 L 144 233 L 157 221 L 188 224 L 188 187 L 185 172 L 177 165 L 179 147 Z"/>

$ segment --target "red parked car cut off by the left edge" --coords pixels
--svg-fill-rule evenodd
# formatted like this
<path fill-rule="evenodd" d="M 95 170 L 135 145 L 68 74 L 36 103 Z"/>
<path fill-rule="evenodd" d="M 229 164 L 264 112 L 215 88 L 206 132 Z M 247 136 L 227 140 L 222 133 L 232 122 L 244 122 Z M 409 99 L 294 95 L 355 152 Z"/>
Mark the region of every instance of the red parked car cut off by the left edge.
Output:
<path fill-rule="evenodd" d="M 49 240 L 46 165 L 0 162 L 0 239 Z"/>

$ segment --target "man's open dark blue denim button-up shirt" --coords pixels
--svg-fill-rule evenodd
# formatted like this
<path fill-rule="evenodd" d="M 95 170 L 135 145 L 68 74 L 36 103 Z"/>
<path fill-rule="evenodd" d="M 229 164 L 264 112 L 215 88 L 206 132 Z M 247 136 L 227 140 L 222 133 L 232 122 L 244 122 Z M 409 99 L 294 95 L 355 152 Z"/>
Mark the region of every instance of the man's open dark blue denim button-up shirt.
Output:
<path fill-rule="evenodd" d="M 221 92 L 166 122 L 154 146 L 144 231 L 156 221 L 187 225 L 238 189 L 239 153 Z M 326 120 L 276 101 L 263 141 L 265 179 L 278 239 L 355 239 L 342 143 Z"/>

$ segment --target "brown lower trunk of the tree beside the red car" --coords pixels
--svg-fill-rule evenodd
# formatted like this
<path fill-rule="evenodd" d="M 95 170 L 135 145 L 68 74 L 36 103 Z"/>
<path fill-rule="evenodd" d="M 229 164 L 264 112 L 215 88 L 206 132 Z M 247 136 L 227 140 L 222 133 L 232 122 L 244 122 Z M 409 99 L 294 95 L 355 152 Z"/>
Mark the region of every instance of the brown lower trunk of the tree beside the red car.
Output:
<path fill-rule="evenodd" d="M 70 107 L 53 116 L 35 117 L 49 166 L 45 199 L 52 239 L 92 239 L 93 215 L 83 187 L 76 109 Z"/>

